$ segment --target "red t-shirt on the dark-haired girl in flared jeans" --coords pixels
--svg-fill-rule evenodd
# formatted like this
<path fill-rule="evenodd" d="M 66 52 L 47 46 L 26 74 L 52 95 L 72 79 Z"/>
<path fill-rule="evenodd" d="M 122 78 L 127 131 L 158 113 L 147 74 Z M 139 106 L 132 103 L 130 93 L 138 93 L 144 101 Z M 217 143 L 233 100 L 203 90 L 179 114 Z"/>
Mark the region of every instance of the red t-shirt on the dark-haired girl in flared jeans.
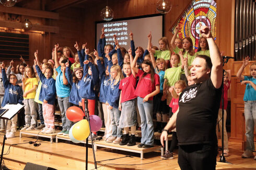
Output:
<path fill-rule="evenodd" d="M 150 73 L 143 76 L 144 71 L 138 70 L 138 73 L 136 74 L 137 77 L 139 77 L 139 81 L 137 84 L 137 87 L 135 89 L 134 94 L 136 96 L 139 96 L 141 98 L 144 98 L 148 94 L 152 93 L 156 90 L 156 86 L 160 85 L 160 78 L 158 74 L 155 74 L 155 81 L 152 84 Z M 153 100 L 153 97 L 150 97 L 149 100 Z"/>

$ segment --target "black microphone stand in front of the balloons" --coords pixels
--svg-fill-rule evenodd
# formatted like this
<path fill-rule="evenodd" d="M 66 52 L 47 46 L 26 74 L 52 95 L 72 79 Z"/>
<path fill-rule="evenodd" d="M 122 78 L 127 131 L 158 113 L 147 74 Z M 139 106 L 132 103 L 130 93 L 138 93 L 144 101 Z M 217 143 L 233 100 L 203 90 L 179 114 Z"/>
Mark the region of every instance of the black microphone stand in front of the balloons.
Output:
<path fill-rule="evenodd" d="M 88 111 L 88 108 L 87 108 L 88 100 L 85 99 L 84 102 L 85 102 L 85 110 L 84 110 L 85 117 L 84 117 L 84 119 L 86 119 L 89 123 L 90 136 L 91 136 L 91 148 L 92 148 L 92 153 L 94 154 L 94 166 L 95 166 L 95 169 L 98 169 L 96 158 L 95 158 L 95 152 L 94 152 L 94 142 L 92 140 L 92 135 L 91 135 L 90 116 L 89 116 L 89 111 Z M 85 164 L 85 169 L 88 170 L 88 138 L 86 138 L 86 164 Z"/>

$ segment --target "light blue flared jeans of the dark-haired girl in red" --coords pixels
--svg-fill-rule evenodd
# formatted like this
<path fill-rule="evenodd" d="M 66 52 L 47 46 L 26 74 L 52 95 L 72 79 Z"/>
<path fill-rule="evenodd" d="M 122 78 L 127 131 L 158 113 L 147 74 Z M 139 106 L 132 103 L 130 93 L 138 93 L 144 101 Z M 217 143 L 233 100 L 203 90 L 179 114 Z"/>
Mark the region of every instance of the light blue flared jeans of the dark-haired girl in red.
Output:
<path fill-rule="evenodd" d="M 138 97 L 138 111 L 141 115 L 142 122 L 142 139 L 141 143 L 154 145 L 154 124 L 153 124 L 153 100 L 143 102 L 143 98 Z"/>

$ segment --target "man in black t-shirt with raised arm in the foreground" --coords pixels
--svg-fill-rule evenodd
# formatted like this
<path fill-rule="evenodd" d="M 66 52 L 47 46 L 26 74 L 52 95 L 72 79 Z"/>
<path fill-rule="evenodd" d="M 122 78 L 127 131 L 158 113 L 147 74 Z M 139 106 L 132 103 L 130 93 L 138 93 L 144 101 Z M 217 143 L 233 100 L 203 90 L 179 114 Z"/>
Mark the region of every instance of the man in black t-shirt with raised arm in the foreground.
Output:
<path fill-rule="evenodd" d="M 184 89 L 179 109 L 161 134 L 176 127 L 179 140 L 178 163 L 184 169 L 215 169 L 217 156 L 216 120 L 222 95 L 223 65 L 217 45 L 208 27 L 201 26 L 201 35 L 210 47 L 210 56 L 196 56 L 190 70 L 195 82 Z"/>

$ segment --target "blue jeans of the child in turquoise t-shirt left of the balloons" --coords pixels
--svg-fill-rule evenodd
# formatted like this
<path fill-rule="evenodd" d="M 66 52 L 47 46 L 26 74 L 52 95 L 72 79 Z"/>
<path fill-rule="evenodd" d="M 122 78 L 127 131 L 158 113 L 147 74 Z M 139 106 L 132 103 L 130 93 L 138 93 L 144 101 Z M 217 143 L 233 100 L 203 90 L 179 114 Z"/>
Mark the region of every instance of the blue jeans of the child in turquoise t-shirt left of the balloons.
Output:
<path fill-rule="evenodd" d="M 58 103 L 61 110 L 61 121 L 62 121 L 62 129 L 69 130 L 73 125 L 73 122 L 69 121 L 66 116 L 66 110 L 69 108 L 70 103 L 68 102 L 69 97 L 59 97 Z"/>

